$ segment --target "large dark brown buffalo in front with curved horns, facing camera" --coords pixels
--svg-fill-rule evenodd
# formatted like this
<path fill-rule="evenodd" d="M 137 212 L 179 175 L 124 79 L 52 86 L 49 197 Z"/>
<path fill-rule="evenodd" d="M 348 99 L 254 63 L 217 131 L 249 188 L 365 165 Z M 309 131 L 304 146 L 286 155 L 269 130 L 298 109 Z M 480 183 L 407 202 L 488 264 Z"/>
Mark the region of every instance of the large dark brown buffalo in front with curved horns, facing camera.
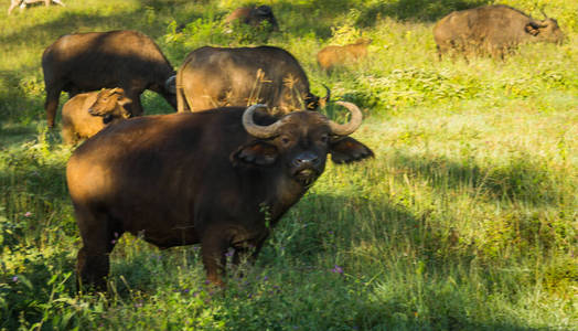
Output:
<path fill-rule="evenodd" d="M 270 226 L 324 170 L 373 156 L 317 111 L 278 119 L 249 108 L 131 118 L 105 128 L 71 157 L 66 179 L 83 247 L 77 273 L 104 286 L 109 254 L 125 232 L 160 248 L 201 244 L 207 278 L 223 285 L 225 253 L 257 256 Z"/>

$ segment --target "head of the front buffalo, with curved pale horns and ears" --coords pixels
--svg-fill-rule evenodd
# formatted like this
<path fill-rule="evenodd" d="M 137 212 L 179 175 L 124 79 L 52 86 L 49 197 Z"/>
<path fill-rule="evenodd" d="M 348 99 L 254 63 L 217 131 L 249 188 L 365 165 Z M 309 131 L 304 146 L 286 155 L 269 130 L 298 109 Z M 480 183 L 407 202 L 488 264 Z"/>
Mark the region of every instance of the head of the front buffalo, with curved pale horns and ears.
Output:
<path fill-rule="evenodd" d="M 373 157 L 373 151 L 346 137 L 362 122 L 362 113 L 351 103 L 339 102 L 351 111 L 351 120 L 340 125 L 317 111 L 290 113 L 267 126 L 254 121 L 254 113 L 265 105 L 254 105 L 243 115 L 245 130 L 256 140 L 242 146 L 231 157 L 236 166 L 282 168 L 286 175 L 302 186 L 311 185 L 323 172 L 328 153 L 335 163 L 349 163 Z"/>

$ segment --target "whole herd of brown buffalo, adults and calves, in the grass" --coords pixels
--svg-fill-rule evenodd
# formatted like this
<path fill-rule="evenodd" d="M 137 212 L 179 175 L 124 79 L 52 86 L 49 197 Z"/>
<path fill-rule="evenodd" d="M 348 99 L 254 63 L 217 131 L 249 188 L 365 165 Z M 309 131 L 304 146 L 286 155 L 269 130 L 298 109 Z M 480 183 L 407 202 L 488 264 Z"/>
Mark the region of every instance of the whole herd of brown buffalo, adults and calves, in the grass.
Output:
<path fill-rule="evenodd" d="M 14 6 L 32 1 L 12 1 Z M 60 1 L 54 1 L 61 3 Z M 50 3 L 49 0 L 45 3 Z M 278 31 L 268 6 L 243 7 L 225 19 Z M 439 56 L 477 53 L 503 57 L 515 45 L 559 43 L 556 20 L 535 20 L 506 6 L 456 11 L 434 28 Z M 372 41 L 328 46 L 321 70 L 366 57 Z M 66 180 L 81 231 L 79 282 L 103 289 L 109 254 L 124 233 L 160 248 L 200 244 L 208 280 L 224 285 L 225 253 L 254 259 L 271 226 L 334 163 L 374 156 L 350 137 L 362 111 L 336 124 L 318 110 L 329 103 L 310 90 L 306 72 L 274 46 L 192 51 L 178 71 L 159 46 L 137 31 L 68 34 L 42 55 L 45 111 L 54 127 L 61 92 Z M 141 116 L 150 89 L 175 110 Z"/>

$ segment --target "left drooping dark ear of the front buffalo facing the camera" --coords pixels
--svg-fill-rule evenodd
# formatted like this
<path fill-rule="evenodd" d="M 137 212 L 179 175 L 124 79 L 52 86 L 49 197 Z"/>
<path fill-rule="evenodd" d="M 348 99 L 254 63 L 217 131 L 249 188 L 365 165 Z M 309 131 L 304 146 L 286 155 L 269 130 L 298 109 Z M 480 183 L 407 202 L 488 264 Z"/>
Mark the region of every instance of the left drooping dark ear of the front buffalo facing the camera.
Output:
<path fill-rule="evenodd" d="M 267 167 L 277 161 L 279 151 L 274 145 L 255 140 L 231 153 L 231 162 L 237 166 Z"/>

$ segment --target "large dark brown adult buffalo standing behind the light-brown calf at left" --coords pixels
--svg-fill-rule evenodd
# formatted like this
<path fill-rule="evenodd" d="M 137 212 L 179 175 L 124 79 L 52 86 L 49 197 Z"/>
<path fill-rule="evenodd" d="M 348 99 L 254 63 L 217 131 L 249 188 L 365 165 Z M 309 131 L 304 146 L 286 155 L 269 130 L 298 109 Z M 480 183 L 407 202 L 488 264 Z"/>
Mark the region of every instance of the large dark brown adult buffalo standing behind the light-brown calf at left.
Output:
<path fill-rule="evenodd" d="M 49 127 L 54 126 L 62 90 L 73 97 L 82 92 L 120 87 L 132 100 L 126 108 L 142 115 L 140 94 L 151 89 L 176 108 L 171 76 L 174 70 L 157 44 L 137 31 L 67 34 L 42 55 Z M 174 83 L 172 83 L 174 84 Z M 173 85 L 174 86 L 174 85 Z"/>

